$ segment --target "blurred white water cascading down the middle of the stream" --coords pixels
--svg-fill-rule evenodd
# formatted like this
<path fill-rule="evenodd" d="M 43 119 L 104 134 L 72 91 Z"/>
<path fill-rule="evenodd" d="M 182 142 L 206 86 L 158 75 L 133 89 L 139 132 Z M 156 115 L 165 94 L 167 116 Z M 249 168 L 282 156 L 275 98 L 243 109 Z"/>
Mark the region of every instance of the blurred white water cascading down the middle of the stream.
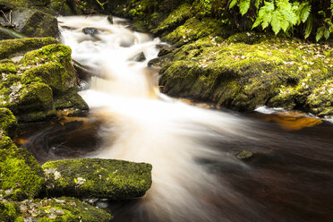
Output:
<path fill-rule="evenodd" d="M 140 218 L 143 211 L 149 212 L 150 221 L 237 221 L 221 218 L 224 214 L 218 203 L 235 204 L 243 197 L 196 160 L 246 167 L 213 142 L 249 138 L 246 121 L 161 94 L 158 72 L 147 68 L 149 59 L 158 55 L 158 38 L 127 30 L 117 23 L 120 19 L 112 25 L 104 16 L 60 17 L 58 21 L 63 43 L 73 49 L 73 59 L 103 76 L 93 78 L 90 90 L 81 92 L 92 115 L 106 122 L 100 130 L 105 142 L 94 158 L 153 166 L 152 187 L 136 206 L 134 221 L 145 221 Z M 86 27 L 98 29 L 99 34 L 83 34 Z M 147 59 L 133 61 L 141 52 Z M 247 203 L 242 204 L 246 209 Z"/>

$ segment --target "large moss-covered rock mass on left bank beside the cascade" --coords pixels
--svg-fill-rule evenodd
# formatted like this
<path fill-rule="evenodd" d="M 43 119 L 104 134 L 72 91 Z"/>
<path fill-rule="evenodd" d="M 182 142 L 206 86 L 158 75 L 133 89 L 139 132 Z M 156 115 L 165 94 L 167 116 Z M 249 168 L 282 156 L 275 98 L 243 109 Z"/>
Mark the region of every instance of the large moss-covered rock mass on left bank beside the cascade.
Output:
<path fill-rule="evenodd" d="M 25 53 L 35 48 L 38 49 Z M 19 121 L 43 120 L 55 115 L 55 110 L 60 108 L 88 109 L 77 94 L 69 47 L 54 38 L 1 41 L 0 56 L 14 55 L 23 55 L 19 63 L 11 59 L 0 61 L 3 78 L 0 107 L 11 109 Z"/>

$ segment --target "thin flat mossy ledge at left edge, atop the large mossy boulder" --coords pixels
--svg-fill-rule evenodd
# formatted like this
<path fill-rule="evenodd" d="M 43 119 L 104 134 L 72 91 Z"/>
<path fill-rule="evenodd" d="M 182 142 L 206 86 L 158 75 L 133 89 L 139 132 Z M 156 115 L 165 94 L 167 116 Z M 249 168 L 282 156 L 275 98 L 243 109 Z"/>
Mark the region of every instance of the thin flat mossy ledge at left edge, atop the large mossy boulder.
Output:
<path fill-rule="evenodd" d="M 0 41 L 0 59 L 22 55 L 39 47 L 55 44 L 55 38 L 20 38 Z"/>

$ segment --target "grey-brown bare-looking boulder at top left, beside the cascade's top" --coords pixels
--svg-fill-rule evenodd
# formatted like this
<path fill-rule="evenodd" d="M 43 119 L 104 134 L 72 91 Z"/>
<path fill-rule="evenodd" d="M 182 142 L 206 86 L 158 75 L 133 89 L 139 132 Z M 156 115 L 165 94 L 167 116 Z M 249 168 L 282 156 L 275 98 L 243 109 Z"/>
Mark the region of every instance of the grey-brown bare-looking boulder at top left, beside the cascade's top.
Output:
<path fill-rule="evenodd" d="M 55 37 L 58 32 L 55 16 L 36 9 L 15 8 L 12 22 L 17 31 L 30 37 Z"/>

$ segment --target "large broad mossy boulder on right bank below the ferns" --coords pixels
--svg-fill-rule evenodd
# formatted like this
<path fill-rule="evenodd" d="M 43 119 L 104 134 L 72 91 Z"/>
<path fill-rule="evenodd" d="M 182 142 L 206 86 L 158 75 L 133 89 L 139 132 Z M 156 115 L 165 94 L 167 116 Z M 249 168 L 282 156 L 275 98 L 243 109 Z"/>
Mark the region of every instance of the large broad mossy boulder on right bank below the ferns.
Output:
<path fill-rule="evenodd" d="M 162 63 L 163 92 L 241 111 L 268 105 L 332 115 L 328 46 L 264 34 L 251 42 L 246 37 L 200 38 L 176 49 Z"/>

